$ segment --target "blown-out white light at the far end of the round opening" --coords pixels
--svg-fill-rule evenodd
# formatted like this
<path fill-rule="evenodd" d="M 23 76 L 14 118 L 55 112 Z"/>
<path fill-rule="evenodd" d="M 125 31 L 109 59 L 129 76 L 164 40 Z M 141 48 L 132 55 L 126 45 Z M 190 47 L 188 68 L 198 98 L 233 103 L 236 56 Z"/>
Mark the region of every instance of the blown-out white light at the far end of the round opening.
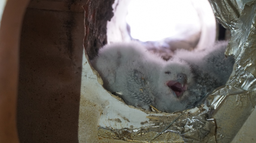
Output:
<path fill-rule="evenodd" d="M 190 0 L 131 0 L 127 23 L 131 36 L 141 41 L 156 41 L 201 30 L 200 20 Z"/>

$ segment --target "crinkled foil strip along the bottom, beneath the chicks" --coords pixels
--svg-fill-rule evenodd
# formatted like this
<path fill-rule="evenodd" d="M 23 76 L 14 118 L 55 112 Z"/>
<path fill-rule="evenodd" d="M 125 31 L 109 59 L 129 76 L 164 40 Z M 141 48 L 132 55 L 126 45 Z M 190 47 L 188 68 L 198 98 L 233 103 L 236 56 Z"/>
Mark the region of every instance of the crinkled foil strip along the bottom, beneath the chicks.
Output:
<path fill-rule="evenodd" d="M 140 129 L 115 129 L 114 127 L 99 127 L 98 136 L 142 143 L 183 143 L 183 142 L 216 142 L 214 119 L 208 118 L 209 110 L 201 108 L 194 115 L 189 112 L 177 113 L 177 118 L 151 116 L 151 122 L 156 126 Z"/>

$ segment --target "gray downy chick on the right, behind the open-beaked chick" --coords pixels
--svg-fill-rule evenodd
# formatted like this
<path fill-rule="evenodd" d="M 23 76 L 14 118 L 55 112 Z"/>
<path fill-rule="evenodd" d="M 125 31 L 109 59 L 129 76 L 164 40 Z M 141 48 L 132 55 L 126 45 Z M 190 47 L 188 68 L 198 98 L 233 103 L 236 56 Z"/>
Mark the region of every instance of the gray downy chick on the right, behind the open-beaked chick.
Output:
<path fill-rule="evenodd" d="M 189 63 L 194 75 L 194 83 L 188 86 L 190 98 L 183 101 L 188 108 L 203 103 L 208 93 L 225 85 L 233 71 L 235 59 L 225 57 L 228 42 L 217 42 L 202 51 L 178 50 L 174 59 L 182 59 Z"/>

